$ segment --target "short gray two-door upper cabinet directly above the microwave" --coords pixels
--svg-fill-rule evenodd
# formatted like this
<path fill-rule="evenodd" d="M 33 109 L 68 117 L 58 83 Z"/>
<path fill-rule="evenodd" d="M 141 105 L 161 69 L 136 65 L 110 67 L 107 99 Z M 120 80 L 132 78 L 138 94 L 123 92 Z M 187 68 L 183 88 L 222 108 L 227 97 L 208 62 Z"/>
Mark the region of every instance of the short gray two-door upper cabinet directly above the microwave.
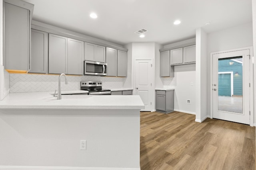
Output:
<path fill-rule="evenodd" d="M 106 63 L 106 47 L 84 43 L 84 60 Z"/>

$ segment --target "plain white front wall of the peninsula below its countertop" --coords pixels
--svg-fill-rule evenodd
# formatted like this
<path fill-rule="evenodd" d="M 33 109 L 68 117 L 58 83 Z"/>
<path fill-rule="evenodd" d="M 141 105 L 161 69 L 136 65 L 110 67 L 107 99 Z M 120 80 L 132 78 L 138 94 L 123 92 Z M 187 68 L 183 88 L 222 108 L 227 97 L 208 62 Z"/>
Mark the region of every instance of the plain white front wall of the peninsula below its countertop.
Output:
<path fill-rule="evenodd" d="M 0 129 L 2 170 L 140 169 L 139 110 L 1 110 Z"/>

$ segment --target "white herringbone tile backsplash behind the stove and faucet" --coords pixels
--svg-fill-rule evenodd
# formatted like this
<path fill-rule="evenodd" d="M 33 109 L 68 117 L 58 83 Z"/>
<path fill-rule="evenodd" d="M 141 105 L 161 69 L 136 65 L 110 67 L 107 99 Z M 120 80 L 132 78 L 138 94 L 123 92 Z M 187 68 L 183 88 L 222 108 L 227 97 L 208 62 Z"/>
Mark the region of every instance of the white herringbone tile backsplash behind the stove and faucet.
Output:
<path fill-rule="evenodd" d="M 10 74 L 10 93 L 47 92 L 58 89 L 59 75 Z M 101 76 L 66 76 L 62 79 L 61 90 L 80 90 L 80 81 L 102 81 L 102 88 L 122 88 L 126 78 Z"/>

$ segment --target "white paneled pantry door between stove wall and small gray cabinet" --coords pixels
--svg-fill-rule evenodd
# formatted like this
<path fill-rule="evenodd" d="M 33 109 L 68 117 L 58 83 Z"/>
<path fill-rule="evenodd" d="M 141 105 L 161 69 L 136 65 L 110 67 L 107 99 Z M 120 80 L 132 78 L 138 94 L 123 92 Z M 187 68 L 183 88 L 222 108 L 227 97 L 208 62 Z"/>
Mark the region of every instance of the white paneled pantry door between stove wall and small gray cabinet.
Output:
<path fill-rule="evenodd" d="M 145 109 L 152 109 L 152 60 L 135 60 L 135 95 L 140 95 Z"/>

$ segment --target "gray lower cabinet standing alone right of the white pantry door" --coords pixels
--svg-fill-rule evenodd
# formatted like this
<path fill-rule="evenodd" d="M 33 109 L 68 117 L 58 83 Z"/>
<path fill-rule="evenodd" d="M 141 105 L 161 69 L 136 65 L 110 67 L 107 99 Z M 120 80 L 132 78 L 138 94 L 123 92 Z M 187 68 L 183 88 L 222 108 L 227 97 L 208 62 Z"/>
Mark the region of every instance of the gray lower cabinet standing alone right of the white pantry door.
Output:
<path fill-rule="evenodd" d="M 174 111 L 174 90 L 156 90 L 156 111 L 162 113 Z"/>

